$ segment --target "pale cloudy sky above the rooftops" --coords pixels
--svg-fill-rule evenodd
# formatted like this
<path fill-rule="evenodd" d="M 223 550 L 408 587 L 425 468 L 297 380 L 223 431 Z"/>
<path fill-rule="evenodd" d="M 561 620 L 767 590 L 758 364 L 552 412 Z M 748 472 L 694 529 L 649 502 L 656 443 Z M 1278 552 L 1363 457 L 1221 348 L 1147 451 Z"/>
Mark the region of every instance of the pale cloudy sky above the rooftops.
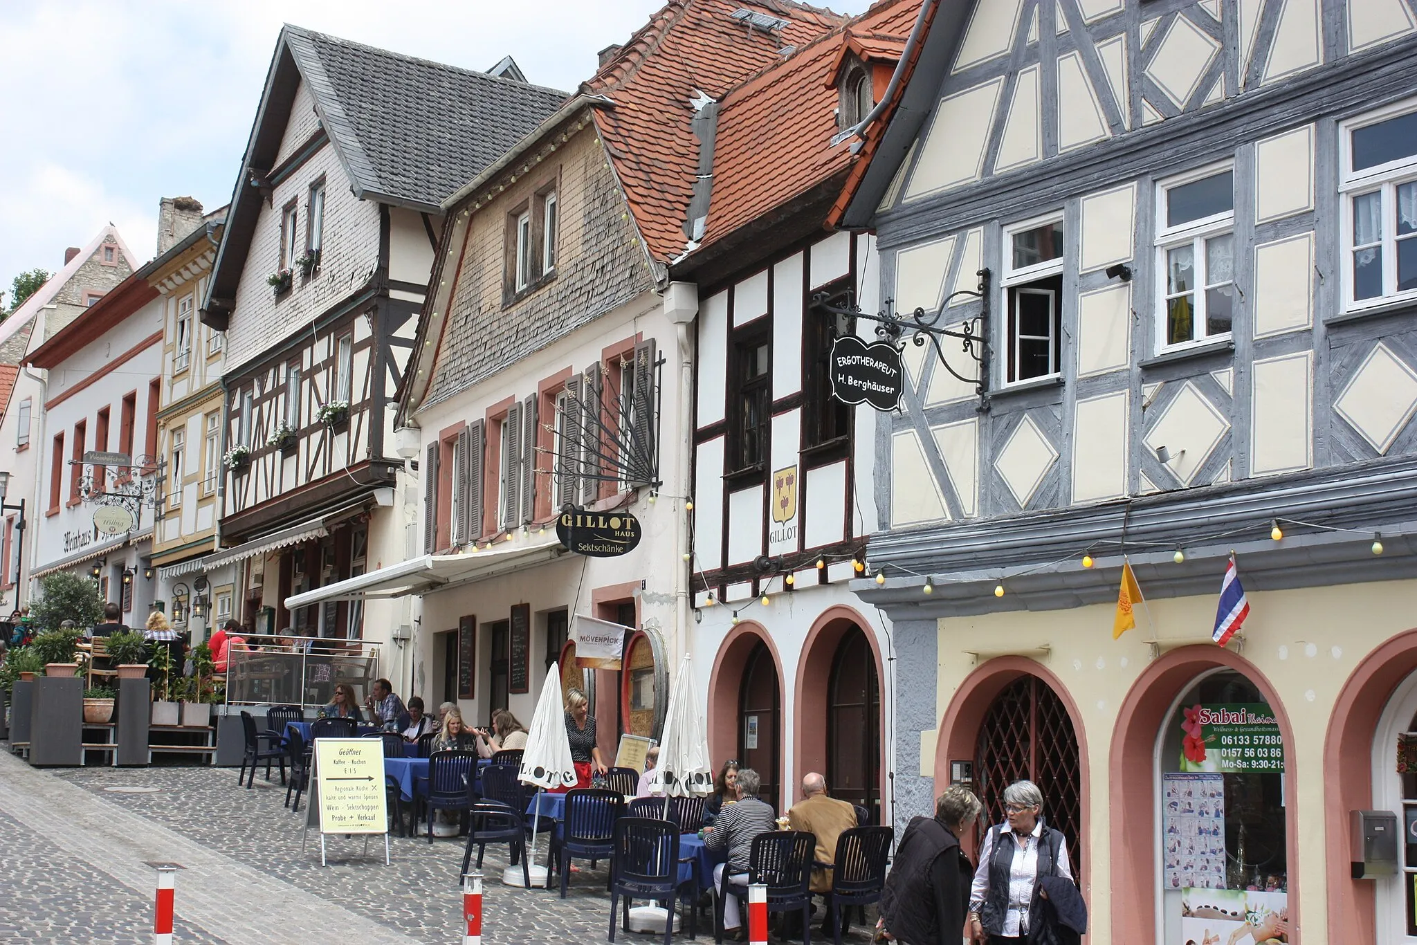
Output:
<path fill-rule="evenodd" d="M 0 290 L 112 221 L 139 259 L 157 201 L 231 198 L 285 21 L 486 69 L 516 58 L 537 85 L 574 89 L 595 52 L 663 0 L 52 0 L 0 3 Z M 819 0 L 822 3 L 822 0 Z M 870 0 L 828 0 L 864 13 Z"/>

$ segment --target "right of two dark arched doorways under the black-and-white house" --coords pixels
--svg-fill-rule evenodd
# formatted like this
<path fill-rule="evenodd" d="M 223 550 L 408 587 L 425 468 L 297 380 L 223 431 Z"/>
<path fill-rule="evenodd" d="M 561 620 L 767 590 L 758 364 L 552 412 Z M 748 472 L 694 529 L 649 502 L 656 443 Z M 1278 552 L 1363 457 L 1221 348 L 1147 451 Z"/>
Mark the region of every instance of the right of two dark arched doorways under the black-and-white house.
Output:
<path fill-rule="evenodd" d="M 826 782 L 832 795 L 871 812 L 880 823 L 880 680 L 860 626 L 842 635 L 832 656 L 826 713 Z"/>

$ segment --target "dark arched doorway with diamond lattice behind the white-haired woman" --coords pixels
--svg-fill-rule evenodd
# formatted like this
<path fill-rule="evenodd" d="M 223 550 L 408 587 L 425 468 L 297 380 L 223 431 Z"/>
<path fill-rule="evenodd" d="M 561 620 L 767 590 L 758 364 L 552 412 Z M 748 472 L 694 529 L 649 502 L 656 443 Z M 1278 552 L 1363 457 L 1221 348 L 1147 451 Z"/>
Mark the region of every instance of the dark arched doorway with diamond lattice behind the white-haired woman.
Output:
<path fill-rule="evenodd" d="M 1063 700 L 1032 673 L 1005 686 L 979 725 L 975 783 L 986 815 L 979 817 L 981 830 L 1003 822 L 1003 789 L 1015 781 L 1032 781 L 1043 792 L 1043 816 L 1067 837 L 1073 876 L 1080 876 L 1083 805 L 1077 735 Z"/>

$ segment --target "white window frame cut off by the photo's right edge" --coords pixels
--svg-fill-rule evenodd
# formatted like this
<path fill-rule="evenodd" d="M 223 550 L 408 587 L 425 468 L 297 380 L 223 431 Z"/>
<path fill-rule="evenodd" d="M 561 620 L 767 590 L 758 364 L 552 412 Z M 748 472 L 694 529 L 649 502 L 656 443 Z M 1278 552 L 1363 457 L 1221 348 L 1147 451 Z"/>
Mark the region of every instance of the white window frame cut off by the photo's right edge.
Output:
<path fill-rule="evenodd" d="M 1417 180 L 1417 156 L 1389 162 L 1386 164 L 1377 164 L 1376 167 L 1365 167 L 1360 171 L 1350 170 L 1353 166 L 1355 130 L 1370 125 L 1379 125 L 1393 118 L 1401 118 L 1403 115 L 1410 115 L 1413 112 L 1417 112 L 1417 98 L 1393 102 L 1391 105 L 1377 109 L 1376 112 L 1367 112 L 1339 123 L 1338 190 L 1343 231 L 1340 269 L 1343 273 L 1345 312 L 1359 312 L 1379 305 L 1391 305 L 1393 302 L 1417 299 L 1417 289 L 1407 289 L 1406 292 L 1397 290 L 1397 187 Z M 1382 242 L 1374 245 L 1382 248 L 1383 290 L 1372 299 L 1355 299 L 1353 200 L 1373 191 L 1382 193 L 1383 237 Z M 1417 239 L 1417 235 L 1408 235 L 1407 239 Z"/>

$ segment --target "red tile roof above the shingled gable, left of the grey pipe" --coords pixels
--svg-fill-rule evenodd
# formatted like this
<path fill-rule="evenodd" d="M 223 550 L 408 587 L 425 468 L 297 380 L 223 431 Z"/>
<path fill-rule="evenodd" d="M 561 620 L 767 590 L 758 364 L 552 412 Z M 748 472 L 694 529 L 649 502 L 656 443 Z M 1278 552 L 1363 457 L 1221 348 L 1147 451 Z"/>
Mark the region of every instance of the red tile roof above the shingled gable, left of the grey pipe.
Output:
<path fill-rule="evenodd" d="M 771 33 L 752 28 L 733 18 L 740 9 L 785 24 Z M 699 169 L 699 139 L 690 128 L 697 92 L 721 99 L 781 62 L 788 47 L 808 45 L 845 21 L 788 0 L 670 0 L 581 86 L 614 102 L 597 111 L 595 122 L 656 261 L 677 258 L 686 244 L 684 217 Z"/>

